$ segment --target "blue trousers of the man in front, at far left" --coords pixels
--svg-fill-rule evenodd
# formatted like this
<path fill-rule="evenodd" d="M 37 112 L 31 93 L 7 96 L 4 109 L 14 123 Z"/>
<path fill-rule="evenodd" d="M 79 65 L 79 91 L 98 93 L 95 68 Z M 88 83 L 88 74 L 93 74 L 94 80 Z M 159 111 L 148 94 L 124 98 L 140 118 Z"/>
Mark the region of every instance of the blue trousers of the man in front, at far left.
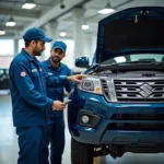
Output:
<path fill-rule="evenodd" d="M 16 133 L 20 148 L 17 164 L 44 164 L 44 127 L 16 127 Z"/>

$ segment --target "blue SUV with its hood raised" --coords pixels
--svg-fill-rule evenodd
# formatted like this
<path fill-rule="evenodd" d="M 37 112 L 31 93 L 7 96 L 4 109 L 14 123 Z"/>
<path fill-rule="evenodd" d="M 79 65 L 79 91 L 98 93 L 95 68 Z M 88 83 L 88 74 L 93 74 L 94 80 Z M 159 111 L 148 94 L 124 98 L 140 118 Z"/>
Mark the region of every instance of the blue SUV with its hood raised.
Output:
<path fill-rule="evenodd" d="M 164 152 L 164 8 L 138 7 L 98 22 L 87 77 L 70 93 L 72 164 L 126 152 Z"/>

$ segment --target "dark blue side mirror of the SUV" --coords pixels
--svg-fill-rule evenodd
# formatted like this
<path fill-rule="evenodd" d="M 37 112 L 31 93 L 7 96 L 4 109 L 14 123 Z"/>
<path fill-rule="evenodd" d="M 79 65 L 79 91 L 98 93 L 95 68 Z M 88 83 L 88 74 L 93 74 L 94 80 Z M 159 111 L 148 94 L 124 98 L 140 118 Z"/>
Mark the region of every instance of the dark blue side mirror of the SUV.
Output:
<path fill-rule="evenodd" d="M 78 57 L 75 58 L 75 67 L 79 68 L 89 68 L 89 57 Z"/>

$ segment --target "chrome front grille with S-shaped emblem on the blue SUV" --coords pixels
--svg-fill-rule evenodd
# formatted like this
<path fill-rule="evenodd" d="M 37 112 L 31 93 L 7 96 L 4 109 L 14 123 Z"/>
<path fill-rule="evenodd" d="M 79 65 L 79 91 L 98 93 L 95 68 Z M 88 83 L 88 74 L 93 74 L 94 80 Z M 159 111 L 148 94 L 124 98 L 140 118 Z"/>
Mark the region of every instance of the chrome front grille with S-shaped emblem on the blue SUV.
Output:
<path fill-rule="evenodd" d="M 107 102 L 164 103 L 164 74 L 155 78 L 130 75 L 101 78 L 107 83 L 106 93 L 103 93 Z M 103 84 L 102 86 L 104 89 Z"/>

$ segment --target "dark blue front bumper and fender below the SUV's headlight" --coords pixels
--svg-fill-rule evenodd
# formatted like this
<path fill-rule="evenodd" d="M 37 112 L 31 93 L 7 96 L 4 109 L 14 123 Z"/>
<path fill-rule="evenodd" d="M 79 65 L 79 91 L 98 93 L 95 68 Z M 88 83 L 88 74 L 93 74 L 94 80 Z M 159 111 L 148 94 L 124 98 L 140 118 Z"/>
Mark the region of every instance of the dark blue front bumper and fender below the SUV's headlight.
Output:
<path fill-rule="evenodd" d="M 139 121 L 141 122 L 141 120 L 112 120 L 110 118 L 113 114 L 164 114 L 163 103 L 154 103 L 154 104 L 108 103 L 105 101 L 104 96 L 86 93 L 83 91 L 78 91 L 77 87 L 74 89 L 74 92 L 70 95 L 70 98 L 73 101 L 69 103 L 69 110 L 68 110 L 69 128 L 71 130 L 71 134 L 73 136 L 73 138 L 75 138 L 79 142 L 99 144 L 99 143 L 126 143 L 128 141 L 130 144 L 140 142 L 140 140 L 142 139 L 147 139 L 147 141 L 150 141 L 150 143 L 153 141 L 160 143 L 164 142 L 164 132 L 162 131 L 159 132 L 157 131 L 133 132 L 126 130 L 105 131 L 109 122 L 139 122 Z M 82 109 L 102 116 L 101 122 L 95 128 L 87 128 L 78 125 L 77 122 L 79 112 Z M 148 121 L 143 120 L 142 122 Z M 163 121 L 159 120 L 159 122 L 164 122 L 164 120 Z"/>

